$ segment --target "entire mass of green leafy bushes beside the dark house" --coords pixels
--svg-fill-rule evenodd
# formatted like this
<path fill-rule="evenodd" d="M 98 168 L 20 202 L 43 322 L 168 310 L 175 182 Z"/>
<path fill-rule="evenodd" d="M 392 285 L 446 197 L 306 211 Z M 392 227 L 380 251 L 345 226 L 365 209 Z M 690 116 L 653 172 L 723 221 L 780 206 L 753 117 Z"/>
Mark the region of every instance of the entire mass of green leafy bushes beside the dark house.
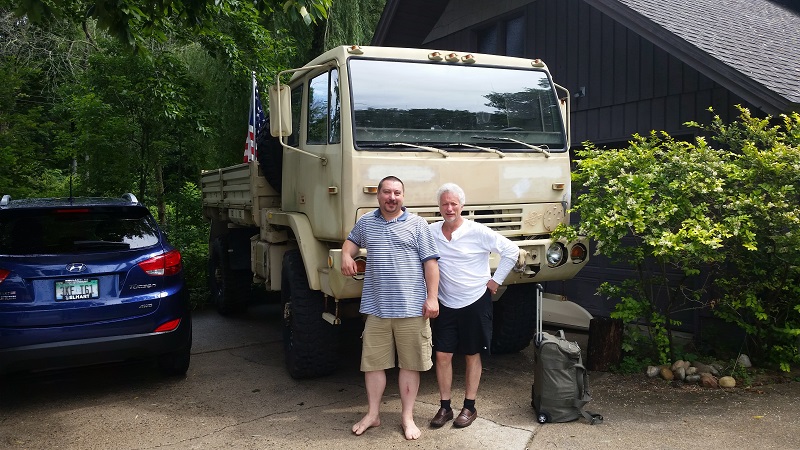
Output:
<path fill-rule="evenodd" d="M 675 359 L 676 314 L 696 308 L 740 326 L 782 370 L 800 362 L 800 116 L 782 118 L 742 109 L 731 125 L 687 124 L 719 148 L 652 132 L 578 152 L 581 221 L 557 233 L 635 268 L 599 293 L 618 301 L 612 317 L 648 327 L 662 363 Z"/>

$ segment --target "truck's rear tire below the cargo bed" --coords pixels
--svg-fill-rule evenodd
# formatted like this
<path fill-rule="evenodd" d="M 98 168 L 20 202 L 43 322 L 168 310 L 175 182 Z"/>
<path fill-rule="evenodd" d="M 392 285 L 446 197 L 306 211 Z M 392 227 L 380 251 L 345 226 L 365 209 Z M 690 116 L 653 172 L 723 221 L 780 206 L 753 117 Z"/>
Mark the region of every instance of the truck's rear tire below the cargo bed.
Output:
<path fill-rule="evenodd" d="M 252 280 L 253 275 L 249 270 L 231 268 L 227 237 L 214 239 L 208 258 L 208 287 L 217 311 L 226 316 L 244 310 L 250 297 Z"/>

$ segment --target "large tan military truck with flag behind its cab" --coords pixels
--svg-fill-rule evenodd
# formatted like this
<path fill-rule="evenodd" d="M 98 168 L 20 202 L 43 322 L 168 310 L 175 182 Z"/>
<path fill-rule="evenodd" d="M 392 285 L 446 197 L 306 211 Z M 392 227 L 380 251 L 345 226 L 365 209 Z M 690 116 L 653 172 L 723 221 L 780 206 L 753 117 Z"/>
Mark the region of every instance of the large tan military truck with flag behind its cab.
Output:
<path fill-rule="evenodd" d="M 217 308 L 242 309 L 253 284 L 280 292 L 289 373 L 332 372 L 363 284 L 363 272 L 342 275 L 341 247 L 377 207 L 378 182 L 403 180 L 405 206 L 429 222 L 441 219 L 437 188 L 454 182 L 466 192 L 462 214 L 520 248 L 493 298 L 492 351 L 527 347 L 534 286 L 570 279 L 588 260 L 585 240 L 550 238 L 569 221 L 569 99 L 541 60 L 478 53 L 343 46 L 281 72 L 258 161 L 201 174 Z M 362 267 L 368 258 L 362 249 Z M 591 318 L 554 294 L 543 317 L 586 328 Z"/>

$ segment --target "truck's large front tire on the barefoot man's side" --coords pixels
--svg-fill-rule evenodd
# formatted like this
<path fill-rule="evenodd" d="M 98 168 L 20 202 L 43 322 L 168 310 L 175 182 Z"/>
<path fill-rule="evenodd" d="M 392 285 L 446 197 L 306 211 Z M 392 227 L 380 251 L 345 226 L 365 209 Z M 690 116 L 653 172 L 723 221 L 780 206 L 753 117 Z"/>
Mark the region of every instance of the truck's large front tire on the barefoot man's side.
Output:
<path fill-rule="evenodd" d="M 299 250 L 283 256 L 281 272 L 283 348 L 286 368 L 295 379 L 333 373 L 338 362 L 338 329 L 322 318 L 322 292 L 308 287 Z"/>

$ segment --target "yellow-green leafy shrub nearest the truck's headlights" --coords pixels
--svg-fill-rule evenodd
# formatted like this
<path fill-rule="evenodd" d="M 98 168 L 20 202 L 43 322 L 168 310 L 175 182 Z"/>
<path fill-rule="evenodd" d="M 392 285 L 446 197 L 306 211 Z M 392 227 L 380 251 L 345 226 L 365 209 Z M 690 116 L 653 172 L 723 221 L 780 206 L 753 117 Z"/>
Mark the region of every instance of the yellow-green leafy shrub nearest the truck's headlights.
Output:
<path fill-rule="evenodd" d="M 582 192 L 573 210 L 597 253 L 636 269 L 635 279 L 601 285 L 601 294 L 620 300 L 612 317 L 646 324 L 655 354 L 667 362 L 679 325 L 674 316 L 704 305 L 706 286 L 692 277 L 721 262 L 717 249 L 735 232 L 720 220 L 719 175 L 729 161 L 703 139 L 680 142 L 653 132 L 629 144 L 606 150 L 587 143 L 578 152 L 574 181 Z"/>

